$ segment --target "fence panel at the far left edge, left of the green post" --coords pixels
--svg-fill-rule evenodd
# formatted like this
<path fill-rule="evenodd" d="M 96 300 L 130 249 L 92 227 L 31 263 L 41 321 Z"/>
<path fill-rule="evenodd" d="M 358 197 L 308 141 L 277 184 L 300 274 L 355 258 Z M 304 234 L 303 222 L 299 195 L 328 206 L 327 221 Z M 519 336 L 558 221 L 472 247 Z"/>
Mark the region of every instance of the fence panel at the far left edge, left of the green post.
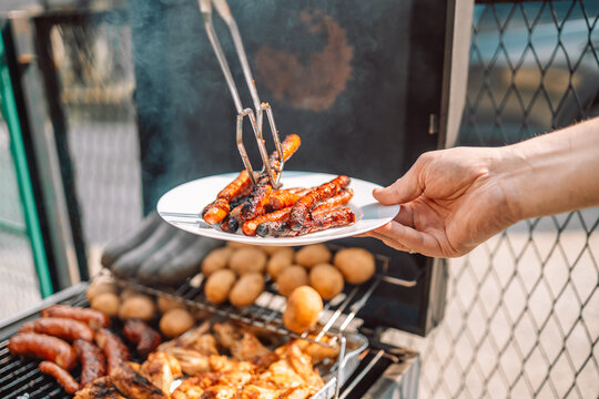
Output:
<path fill-rule="evenodd" d="M 31 245 L 10 152 L 7 123 L 0 117 L 0 319 L 37 304 L 40 297 Z"/>

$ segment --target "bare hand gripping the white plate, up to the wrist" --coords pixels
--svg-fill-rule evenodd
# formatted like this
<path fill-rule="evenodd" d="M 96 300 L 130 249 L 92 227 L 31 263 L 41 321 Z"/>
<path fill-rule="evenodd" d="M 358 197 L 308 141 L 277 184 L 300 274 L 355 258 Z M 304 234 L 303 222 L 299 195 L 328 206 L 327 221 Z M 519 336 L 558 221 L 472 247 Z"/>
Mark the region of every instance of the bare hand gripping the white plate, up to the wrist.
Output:
<path fill-rule="evenodd" d="M 402 209 L 366 235 L 427 256 L 470 252 L 518 219 L 504 185 L 505 157 L 501 149 L 480 147 L 423 154 L 403 177 L 374 191 L 378 202 Z"/>

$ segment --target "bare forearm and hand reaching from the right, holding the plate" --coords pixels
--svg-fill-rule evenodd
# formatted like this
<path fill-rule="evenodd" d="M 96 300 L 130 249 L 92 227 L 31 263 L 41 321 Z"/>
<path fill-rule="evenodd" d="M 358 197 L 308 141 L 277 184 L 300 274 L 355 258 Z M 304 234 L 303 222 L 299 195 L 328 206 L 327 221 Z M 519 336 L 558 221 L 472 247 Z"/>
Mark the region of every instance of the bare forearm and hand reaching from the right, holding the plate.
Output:
<path fill-rule="evenodd" d="M 423 154 L 382 204 L 402 204 L 368 235 L 399 250 L 460 256 L 511 224 L 599 205 L 599 117 L 505 147 Z"/>

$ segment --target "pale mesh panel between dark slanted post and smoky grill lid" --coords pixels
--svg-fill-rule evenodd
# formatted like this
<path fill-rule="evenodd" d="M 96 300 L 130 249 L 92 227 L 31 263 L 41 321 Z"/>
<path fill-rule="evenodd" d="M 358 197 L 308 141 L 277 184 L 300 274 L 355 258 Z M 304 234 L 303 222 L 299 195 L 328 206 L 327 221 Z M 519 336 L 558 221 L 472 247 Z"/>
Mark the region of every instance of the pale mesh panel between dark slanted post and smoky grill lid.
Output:
<path fill-rule="evenodd" d="M 88 253 L 142 216 L 130 28 L 94 16 L 51 30 Z M 90 250 L 91 249 L 91 250 Z"/>

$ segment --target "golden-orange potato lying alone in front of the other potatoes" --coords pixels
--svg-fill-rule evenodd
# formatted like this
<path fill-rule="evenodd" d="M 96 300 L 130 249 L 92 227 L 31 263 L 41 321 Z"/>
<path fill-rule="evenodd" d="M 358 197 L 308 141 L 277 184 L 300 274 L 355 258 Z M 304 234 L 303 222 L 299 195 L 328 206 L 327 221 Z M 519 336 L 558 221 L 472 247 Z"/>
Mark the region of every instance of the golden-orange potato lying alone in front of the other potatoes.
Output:
<path fill-rule="evenodd" d="M 283 324 L 290 330 L 302 334 L 318 323 L 318 316 L 323 310 L 323 299 L 316 290 L 308 286 L 301 286 L 290 295 Z"/>

